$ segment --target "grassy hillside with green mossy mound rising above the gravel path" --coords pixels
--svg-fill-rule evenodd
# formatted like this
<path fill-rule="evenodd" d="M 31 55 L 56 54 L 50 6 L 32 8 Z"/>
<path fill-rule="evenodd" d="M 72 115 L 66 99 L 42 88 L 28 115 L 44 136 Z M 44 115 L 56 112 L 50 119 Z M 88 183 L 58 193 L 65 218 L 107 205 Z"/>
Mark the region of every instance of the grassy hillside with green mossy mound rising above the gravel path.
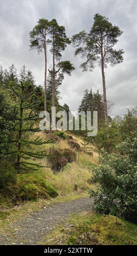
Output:
<path fill-rule="evenodd" d="M 35 135 L 30 135 L 30 140 L 35 139 L 37 136 L 47 140 L 49 134 L 36 132 Z M 54 133 L 51 133 L 51 136 L 54 136 Z M 67 136 L 69 137 L 69 133 L 67 133 Z M 60 151 L 70 149 L 70 151 L 74 151 L 76 161 L 67 162 L 66 166 L 60 172 L 54 173 L 51 167 L 47 167 L 37 171 L 17 174 L 16 183 L 8 184 L 6 189 L 0 194 L 1 207 L 21 204 L 29 200 L 37 201 L 40 198 L 50 199 L 57 196 L 69 196 L 73 199 L 75 183 L 77 183 L 78 187 L 77 196 L 80 196 L 81 193 L 87 193 L 91 187 L 90 180 L 94 164 L 97 163 L 97 154 L 94 152 L 94 155 L 90 156 L 81 151 L 80 164 L 78 164 L 78 152 L 75 148 L 70 148 L 68 137 L 66 139 L 60 139 L 58 137 L 57 142 L 38 146 L 37 150 L 45 150 L 49 154 L 48 150 L 50 148 L 59 149 Z M 73 136 L 73 139 L 79 145 L 83 142 L 80 137 Z M 31 145 L 31 150 L 33 149 L 34 146 Z M 45 157 L 44 159 L 32 159 L 31 162 L 41 163 L 42 166 L 50 166 L 47 160 L 48 157 Z"/>

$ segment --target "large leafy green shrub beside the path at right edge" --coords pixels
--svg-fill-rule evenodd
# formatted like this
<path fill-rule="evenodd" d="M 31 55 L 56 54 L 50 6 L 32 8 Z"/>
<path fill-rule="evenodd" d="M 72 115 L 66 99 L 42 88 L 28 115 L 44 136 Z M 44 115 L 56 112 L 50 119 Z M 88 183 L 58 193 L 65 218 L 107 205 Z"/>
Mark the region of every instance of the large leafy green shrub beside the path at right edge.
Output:
<path fill-rule="evenodd" d="M 125 142 L 126 144 L 127 142 Z M 101 164 L 94 168 L 93 182 L 98 184 L 96 190 L 90 190 L 90 196 L 94 197 L 97 211 L 103 214 L 125 216 L 128 220 L 137 222 L 137 166 L 134 160 L 137 150 L 137 139 L 127 143 L 128 156 L 119 154 L 107 154 L 104 151 L 101 156 Z M 123 144 L 119 150 L 123 150 Z M 133 155 L 132 155 L 133 152 Z"/>

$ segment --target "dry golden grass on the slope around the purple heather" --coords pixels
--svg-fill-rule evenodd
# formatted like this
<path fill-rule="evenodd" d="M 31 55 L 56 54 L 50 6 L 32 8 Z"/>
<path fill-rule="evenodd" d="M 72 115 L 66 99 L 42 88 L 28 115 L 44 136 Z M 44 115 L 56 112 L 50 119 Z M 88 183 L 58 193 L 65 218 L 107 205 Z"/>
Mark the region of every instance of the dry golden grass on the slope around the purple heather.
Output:
<path fill-rule="evenodd" d="M 68 132 L 67 132 L 68 133 Z M 44 132 L 36 132 L 31 138 L 34 139 L 35 137 L 40 136 L 43 140 L 46 140 L 46 134 Z M 73 138 L 76 140 L 77 143 L 81 145 L 81 142 L 84 143 L 81 137 L 72 135 Z M 58 149 L 65 149 L 70 148 L 67 139 L 61 140 L 55 144 L 44 144 L 41 146 L 42 149 L 48 149 L 49 147 L 55 147 Z M 90 143 L 89 147 L 93 147 Z M 60 195 L 65 193 L 71 193 L 74 191 L 74 183 L 78 185 L 78 192 L 81 193 L 82 191 L 87 191 L 91 185 L 88 184 L 88 179 L 92 176 L 92 171 L 87 166 L 91 163 L 97 163 L 98 155 L 97 153 L 93 152 L 93 156 L 84 154 L 83 152 L 80 153 L 80 164 L 78 164 L 78 153 L 77 154 L 77 161 L 73 163 L 68 163 L 67 166 L 64 168 L 63 172 L 59 172 L 57 174 L 53 174 L 51 168 L 42 168 L 41 174 L 45 177 L 48 183 L 52 184 Z M 35 162 L 41 162 L 42 165 L 48 166 L 47 164 L 47 157 L 42 160 L 36 160 Z M 82 163 L 85 164 L 83 165 Z"/>

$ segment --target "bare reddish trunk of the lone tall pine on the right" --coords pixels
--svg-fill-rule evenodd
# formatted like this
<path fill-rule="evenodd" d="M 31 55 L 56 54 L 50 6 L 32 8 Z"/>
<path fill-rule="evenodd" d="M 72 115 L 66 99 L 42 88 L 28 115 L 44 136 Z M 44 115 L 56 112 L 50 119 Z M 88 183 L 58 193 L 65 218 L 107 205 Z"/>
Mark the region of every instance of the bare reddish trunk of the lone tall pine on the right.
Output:
<path fill-rule="evenodd" d="M 106 82 L 105 82 L 105 72 L 104 72 L 102 34 L 101 34 L 101 70 L 102 70 L 102 83 L 103 83 L 103 103 L 104 103 L 104 111 L 105 111 L 105 124 L 107 124 L 108 123 L 108 109 L 107 109 Z"/>

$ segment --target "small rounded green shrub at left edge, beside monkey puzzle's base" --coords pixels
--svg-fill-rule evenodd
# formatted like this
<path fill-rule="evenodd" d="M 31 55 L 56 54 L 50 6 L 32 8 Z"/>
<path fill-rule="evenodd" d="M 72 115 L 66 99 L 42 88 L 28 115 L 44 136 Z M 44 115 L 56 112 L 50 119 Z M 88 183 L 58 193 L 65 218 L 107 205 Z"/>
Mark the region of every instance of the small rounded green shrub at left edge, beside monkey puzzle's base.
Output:
<path fill-rule="evenodd" d="M 5 188 L 9 183 L 15 184 L 17 172 L 14 167 L 7 162 L 1 162 L 0 167 L 0 190 Z"/>

